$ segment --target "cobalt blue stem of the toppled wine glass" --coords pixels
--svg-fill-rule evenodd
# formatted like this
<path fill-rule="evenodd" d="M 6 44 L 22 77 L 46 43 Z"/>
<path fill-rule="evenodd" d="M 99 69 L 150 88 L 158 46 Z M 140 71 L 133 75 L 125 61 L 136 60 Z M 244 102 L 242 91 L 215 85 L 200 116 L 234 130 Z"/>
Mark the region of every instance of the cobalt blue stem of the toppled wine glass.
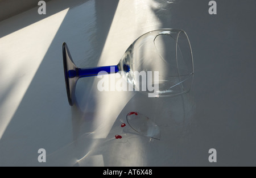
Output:
<path fill-rule="evenodd" d="M 103 67 L 94 67 L 94 68 L 76 68 L 75 70 L 68 71 L 68 77 L 91 77 L 97 76 L 102 74 L 111 74 L 117 73 L 119 71 L 118 65 L 110 65 L 110 66 L 103 66 Z"/>

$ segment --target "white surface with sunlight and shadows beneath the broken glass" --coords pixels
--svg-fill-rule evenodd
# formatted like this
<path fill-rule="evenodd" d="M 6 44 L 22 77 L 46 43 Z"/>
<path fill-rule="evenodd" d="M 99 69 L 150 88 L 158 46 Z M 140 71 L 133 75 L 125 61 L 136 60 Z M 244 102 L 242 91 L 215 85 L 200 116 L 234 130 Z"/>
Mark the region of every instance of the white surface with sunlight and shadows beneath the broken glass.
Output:
<path fill-rule="evenodd" d="M 56 0 L 47 3 L 47 18 L 35 8 L 0 22 L 0 165 L 255 165 L 255 7 L 217 2 L 213 16 L 199 0 Z M 77 83 L 78 105 L 68 105 L 63 42 L 79 67 L 115 65 L 156 28 L 187 32 L 190 93 L 99 92 L 99 78 L 89 77 Z M 160 140 L 120 127 L 134 110 L 159 125 Z M 46 163 L 38 162 L 39 148 Z M 208 162 L 210 148 L 217 163 Z"/>

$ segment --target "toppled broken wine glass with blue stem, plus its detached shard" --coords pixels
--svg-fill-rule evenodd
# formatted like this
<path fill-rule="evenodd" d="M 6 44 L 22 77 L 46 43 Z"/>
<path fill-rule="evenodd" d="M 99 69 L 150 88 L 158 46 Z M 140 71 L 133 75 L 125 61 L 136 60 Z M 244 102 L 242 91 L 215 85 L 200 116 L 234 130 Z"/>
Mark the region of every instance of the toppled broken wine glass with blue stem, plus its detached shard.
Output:
<path fill-rule="evenodd" d="M 97 76 L 102 71 L 103 74 L 120 72 L 135 90 L 148 94 L 148 97 L 170 97 L 187 93 L 193 81 L 193 56 L 188 36 L 185 31 L 172 28 L 143 34 L 127 48 L 117 65 L 104 67 L 76 67 L 64 42 L 63 65 L 68 102 L 71 106 L 75 101 L 77 80 L 81 77 Z M 127 114 L 128 121 L 134 130 L 160 139 L 159 127 L 146 116 L 139 113 Z"/>

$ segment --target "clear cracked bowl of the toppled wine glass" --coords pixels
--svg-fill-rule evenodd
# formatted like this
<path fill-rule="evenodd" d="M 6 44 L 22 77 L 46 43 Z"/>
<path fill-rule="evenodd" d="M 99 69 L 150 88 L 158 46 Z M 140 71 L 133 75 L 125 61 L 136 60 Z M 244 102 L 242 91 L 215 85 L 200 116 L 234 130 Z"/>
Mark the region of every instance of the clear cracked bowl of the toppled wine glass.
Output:
<path fill-rule="evenodd" d="M 122 76 L 138 91 L 142 91 L 143 85 L 149 84 L 147 78 L 151 78 L 149 85 L 158 85 L 157 91 L 150 91 L 144 86 L 144 93 L 151 93 L 152 97 L 188 92 L 192 84 L 192 50 L 183 30 L 160 29 L 147 32 L 130 45 L 120 63 L 120 66 L 129 66 L 129 71 L 122 70 Z M 140 75 L 142 71 L 146 72 L 145 78 Z M 155 76 L 154 72 L 158 74 Z"/>

